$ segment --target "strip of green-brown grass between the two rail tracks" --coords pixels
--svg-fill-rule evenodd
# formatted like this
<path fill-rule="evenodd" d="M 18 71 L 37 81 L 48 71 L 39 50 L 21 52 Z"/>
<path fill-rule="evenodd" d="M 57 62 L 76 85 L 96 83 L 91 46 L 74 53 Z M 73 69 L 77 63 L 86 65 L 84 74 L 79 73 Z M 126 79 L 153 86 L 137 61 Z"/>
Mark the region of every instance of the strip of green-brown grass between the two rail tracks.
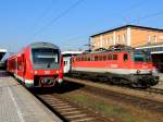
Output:
<path fill-rule="evenodd" d="M 103 99 L 99 99 L 96 96 L 89 96 L 84 93 L 68 94 L 65 96 L 68 99 L 82 106 L 91 108 L 92 110 L 113 120 L 120 120 L 122 122 L 152 122 L 152 120 L 149 120 L 149 118 L 141 118 L 141 115 L 133 114 L 130 110 L 127 110 L 127 108 Z"/>

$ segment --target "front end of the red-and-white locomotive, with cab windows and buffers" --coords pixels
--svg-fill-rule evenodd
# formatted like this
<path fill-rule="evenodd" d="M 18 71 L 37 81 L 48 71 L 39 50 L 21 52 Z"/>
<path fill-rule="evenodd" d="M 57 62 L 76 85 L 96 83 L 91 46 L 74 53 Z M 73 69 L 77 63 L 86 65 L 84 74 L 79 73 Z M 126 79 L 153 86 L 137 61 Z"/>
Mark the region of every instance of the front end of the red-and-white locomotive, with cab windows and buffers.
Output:
<path fill-rule="evenodd" d="M 153 66 L 151 56 L 147 52 L 133 51 L 130 53 L 131 63 L 131 85 L 134 87 L 154 86 L 159 82 L 158 70 Z"/>

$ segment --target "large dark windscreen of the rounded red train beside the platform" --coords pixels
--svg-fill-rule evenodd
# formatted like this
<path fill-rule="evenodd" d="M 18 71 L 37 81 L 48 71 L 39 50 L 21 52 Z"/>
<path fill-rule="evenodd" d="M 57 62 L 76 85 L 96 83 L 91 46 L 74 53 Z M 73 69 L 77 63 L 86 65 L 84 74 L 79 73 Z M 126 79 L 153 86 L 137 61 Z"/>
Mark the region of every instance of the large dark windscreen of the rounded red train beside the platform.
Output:
<path fill-rule="evenodd" d="M 54 70 L 59 69 L 60 52 L 57 49 L 37 48 L 32 49 L 34 69 Z"/>

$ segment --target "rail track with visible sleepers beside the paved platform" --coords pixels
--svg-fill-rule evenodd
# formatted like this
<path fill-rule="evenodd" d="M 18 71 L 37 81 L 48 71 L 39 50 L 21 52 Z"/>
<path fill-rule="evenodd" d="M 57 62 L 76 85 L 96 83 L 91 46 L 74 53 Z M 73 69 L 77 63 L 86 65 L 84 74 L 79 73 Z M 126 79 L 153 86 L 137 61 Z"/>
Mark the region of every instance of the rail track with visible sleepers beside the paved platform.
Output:
<path fill-rule="evenodd" d="M 32 93 L 64 122 L 110 122 L 104 117 L 100 117 L 99 113 L 62 98 L 58 94 L 51 94 L 51 91 L 48 91 L 49 94 L 41 91 L 40 94 L 38 90 Z"/>

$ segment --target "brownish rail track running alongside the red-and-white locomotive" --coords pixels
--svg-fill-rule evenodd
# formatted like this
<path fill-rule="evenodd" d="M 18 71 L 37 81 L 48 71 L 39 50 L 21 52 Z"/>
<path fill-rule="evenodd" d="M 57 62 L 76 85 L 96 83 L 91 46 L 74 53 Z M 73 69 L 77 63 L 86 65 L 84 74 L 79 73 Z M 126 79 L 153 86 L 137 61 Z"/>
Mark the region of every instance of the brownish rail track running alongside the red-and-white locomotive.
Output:
<path fill-rule="evenodd" d="M 108 88 L 106 86 L 100 87 L 99 85 L 92 85 L 91 82 L 85 83 L 84 80 L 76 80 L 76 78 L 68 78 L 65 77 L 66 81 L 68 82 L 75 82 L 79 84 L 84 84 L 85 87 L 83 90 L 87 90 L 96 96 L 113 99 L 120 102 L 125 102 L 125 103 L 130 103 L 134 106 L 138 106 L 142 109 L 150 110 L 152 112 L 156 112 L 159 114 L 163 113 L 163 100 L 162 101 L 156 101 L 154 98 L 148 99 L 146 97 L 139 97 L 139 95 L 134 95 L 137 90 L 133 90 L 134 94 L 129 94 L 128 91 L 130 90 L 129 88 L 126 90 L 126 88 L 123 88 L 122 90 L 112 90 Z M 114 88 L 115 89 L 115 88 Z M 126 93 L 123 93 L 123 90 L 126 90 Z M 150 91 L 153 90 L 153 93 L 159 93 L 154 89 L 149 89 Z"/>

